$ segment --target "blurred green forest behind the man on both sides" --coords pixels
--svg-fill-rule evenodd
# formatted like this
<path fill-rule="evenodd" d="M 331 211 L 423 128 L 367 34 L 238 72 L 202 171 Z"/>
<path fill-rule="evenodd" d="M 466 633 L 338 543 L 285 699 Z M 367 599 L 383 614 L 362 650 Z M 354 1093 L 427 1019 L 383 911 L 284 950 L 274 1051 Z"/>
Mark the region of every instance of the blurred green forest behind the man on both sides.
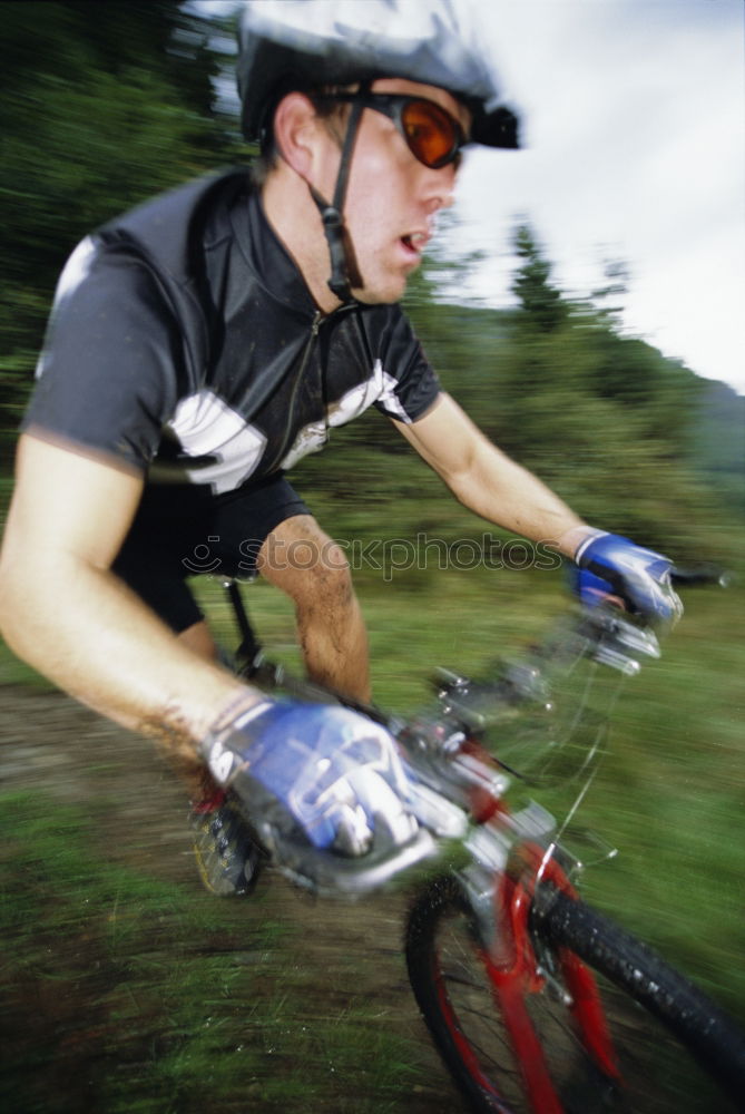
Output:
<path fill-rule="evenodd" d="M 55 283 L 77 241 L 137 202 L 245 163 L 252 153 L 218 96 L 219 75 L 231 80 L 229 20 L 206 20 L 166 0 L 27 0 L 3 6 L 3 28 L 0 468 L 7 477 Z M 708 551 L 728 549 L 729 517 L 745 508 L 745 400 L 625 334 L 623 264 L 609 265 L 602 289 L 578 301 L 552 283 L 528 222 L 513 229 L 511 246 L 513 310 L 443 301 L 453 272 L 473 261 L 435 255 L 412 284 L 408 309 L 444 387 L 588 520 L 685 555 L 704 539 Z M 447 284 L 439 281 L 444 273 Z M 354 522 L 357 490 L 367 502 L 404 505 L 421 469 L 384 426 L 369 416 L 344 430 L 335 451 L 301 468 L 298 483 L 320 488 L 322 501 L 336 509 L 349 496 Z M 395 468 L 371 468 L 376 455 L 400 459 Z M 430 506 L 439 489 L 427 492 L 427 516 L 447 518 L 445 509 Z M 415 532 L 416 522 L 401 517 L 396 528 Z M 343 518 L 340 528 L 351 525 Z"/>

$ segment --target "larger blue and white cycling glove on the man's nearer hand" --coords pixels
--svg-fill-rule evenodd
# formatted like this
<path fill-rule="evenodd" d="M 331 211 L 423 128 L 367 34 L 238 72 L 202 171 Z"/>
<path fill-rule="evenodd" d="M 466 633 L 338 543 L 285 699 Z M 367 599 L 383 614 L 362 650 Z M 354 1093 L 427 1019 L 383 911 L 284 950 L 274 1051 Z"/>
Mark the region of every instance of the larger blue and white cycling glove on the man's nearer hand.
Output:
<path fill-rule="evenodd" d="M 263 701 L 210 734 L 202 752 L 252 818 L 271 813 L 285 831 L 298 824 L 317 848 L 357 856 L 380 829 L 396 844 L 416 833 L 395 742 L 356 712 Z"/>

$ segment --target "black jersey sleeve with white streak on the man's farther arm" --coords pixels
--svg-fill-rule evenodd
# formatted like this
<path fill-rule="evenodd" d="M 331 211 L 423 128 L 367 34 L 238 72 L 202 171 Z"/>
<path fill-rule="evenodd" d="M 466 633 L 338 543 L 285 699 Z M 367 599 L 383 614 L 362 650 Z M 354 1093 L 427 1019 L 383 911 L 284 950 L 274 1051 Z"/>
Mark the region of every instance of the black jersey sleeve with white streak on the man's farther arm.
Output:
<path fill-rule="evenodd" d="M 385 311 L 376 345 L 383 389 L 375 407 L 409 424 L 430 409 L 440 393 L 440 381 L 402 310 L 396 305 Z"/>

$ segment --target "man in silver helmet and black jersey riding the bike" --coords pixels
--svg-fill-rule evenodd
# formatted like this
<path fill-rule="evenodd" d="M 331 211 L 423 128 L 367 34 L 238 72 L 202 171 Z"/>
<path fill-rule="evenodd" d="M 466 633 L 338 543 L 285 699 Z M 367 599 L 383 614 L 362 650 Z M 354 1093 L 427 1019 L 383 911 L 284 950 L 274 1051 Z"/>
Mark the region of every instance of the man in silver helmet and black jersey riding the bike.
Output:
<path fill-rule="evenodd" d="M 398 305 L 462 147 L 518 146 L 474 28 L 437 0 L 283 0 L 246 4 L 239 38 L 253 173 L 117 218 L 62 272 L 1 589 L 20 656 L 199 783 L 203 870 L 232 892 L 255 867 L 235 794 L 347 854 L 416 830 L 385 732 L 236 680 L 186 585 L 257 569 L 294 600 L 310 675 L 369 695 L 349 568 L 285 477 L 331 426 L 374 404 L 467 507 L 574 558 L 580 590 L 663 622 L 679 607 L 668 561 L 587 526 L 474 428 Z"/>

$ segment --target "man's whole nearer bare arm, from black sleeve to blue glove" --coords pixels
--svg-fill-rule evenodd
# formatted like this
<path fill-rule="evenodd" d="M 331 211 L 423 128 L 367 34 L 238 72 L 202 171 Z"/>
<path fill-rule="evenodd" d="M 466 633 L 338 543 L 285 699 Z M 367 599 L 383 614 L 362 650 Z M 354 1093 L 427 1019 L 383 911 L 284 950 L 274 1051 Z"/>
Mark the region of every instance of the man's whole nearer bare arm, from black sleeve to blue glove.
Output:
<path fill-rule="evenodd" d="M 131 472 L 24 434 L 0 555 L 0 625 L 19 657 L 193 769 L 195 742 L 249 693 L 184 647 L 110 571 L 141 488 Z"/>

